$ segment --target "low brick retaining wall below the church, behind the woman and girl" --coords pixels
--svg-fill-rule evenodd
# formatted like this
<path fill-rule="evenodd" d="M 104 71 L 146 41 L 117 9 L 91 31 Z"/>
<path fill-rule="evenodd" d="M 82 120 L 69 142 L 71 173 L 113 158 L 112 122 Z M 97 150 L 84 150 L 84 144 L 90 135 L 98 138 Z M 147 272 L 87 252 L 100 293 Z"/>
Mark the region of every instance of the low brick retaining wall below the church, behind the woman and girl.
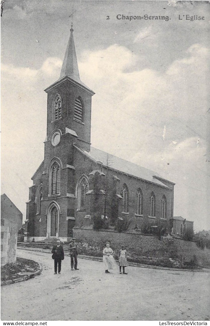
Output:
<path fill-rule="evenodd" d="M 195 242 L 183 239 L 162 238 L 159 240 L 153 235 L 79 228 L 73 229 L 73 236 L 77 242 L 98 246 L 101 249 L 105 247 L 106 241 L 110 242 L 113 250 L 119 250 L 123 244 L 131 257 L 153 256 L 185 261 L 197 260 L 198 264 L 203 267 L 210 266 L 210 250 L 202 250 L 196 246 Z"/>

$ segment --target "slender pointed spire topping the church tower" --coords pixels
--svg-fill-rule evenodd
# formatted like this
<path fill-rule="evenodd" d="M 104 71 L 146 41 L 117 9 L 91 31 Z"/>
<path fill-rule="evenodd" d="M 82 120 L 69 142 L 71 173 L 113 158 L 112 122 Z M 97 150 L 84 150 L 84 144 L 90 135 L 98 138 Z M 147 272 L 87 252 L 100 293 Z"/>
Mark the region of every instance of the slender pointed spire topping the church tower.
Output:
<path fill-rule="evenodd" d="M 71 29 L 70 29 L 71 34 L 69 37 L 69 42 L 67 45 L 67 49 L 66 49 L 64 60 L 63 60 L 63 66 L 61 68 L 61 73 L 60 73 L 59 79 L 65 77 L 65 76 L 69 76 L 69 77 L 72 77 L 73 79 L 80 81 L 72 27 L 73 27 L 73 23 L 71 25 Z"/>

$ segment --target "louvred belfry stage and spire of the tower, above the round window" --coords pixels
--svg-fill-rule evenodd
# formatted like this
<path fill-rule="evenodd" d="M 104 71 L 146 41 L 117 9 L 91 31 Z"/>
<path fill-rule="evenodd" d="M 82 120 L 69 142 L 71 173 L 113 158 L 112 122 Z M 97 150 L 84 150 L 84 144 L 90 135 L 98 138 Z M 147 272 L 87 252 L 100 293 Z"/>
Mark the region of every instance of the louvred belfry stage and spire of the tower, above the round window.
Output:
<path fill-rule="evenodd" d="M 57 82 L 45 89 L 47 93 L 47 137 L 55 147 L 62 136 L 74 136 L 74 142 L 90 150 L 91 91 L 79 77 L 73 39 L 73 25 Z M 55 134 L 54 134 L 55 131 Z M 57 132 L 57 133 L 56 133 Z M 60 134 L 60 135 L 59 135 Z"/>

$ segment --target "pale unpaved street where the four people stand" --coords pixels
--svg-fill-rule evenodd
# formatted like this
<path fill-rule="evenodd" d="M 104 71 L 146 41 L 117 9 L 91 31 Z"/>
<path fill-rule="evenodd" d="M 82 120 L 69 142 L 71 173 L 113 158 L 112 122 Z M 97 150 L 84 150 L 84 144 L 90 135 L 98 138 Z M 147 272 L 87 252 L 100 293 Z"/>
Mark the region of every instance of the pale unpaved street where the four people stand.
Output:
<path fill-rule="evenodd" d="M 2 320 L 209 320 L 210 273 L 118 266 L 65 256 L 54 275 L 51 254 L 17 250 L 42 264 L 41 275 L 1 288 Z"/>

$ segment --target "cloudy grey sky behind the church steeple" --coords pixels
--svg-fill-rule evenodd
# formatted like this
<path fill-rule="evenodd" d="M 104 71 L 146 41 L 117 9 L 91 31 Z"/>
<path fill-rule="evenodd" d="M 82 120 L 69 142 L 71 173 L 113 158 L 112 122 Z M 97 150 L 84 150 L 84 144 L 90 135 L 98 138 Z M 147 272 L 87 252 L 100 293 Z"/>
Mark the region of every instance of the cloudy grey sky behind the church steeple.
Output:
<path fill-rule="evenodd" d="M 43 90 L 59 78 L 72 20 L 80 79 L 95 92 L 92 146 L 174 182 L 174 216 L 194 221 L 195 232 L 210 230 L 207 1 L 5 1 L 1 194 L 25 220 L 44 158 Z"/>

